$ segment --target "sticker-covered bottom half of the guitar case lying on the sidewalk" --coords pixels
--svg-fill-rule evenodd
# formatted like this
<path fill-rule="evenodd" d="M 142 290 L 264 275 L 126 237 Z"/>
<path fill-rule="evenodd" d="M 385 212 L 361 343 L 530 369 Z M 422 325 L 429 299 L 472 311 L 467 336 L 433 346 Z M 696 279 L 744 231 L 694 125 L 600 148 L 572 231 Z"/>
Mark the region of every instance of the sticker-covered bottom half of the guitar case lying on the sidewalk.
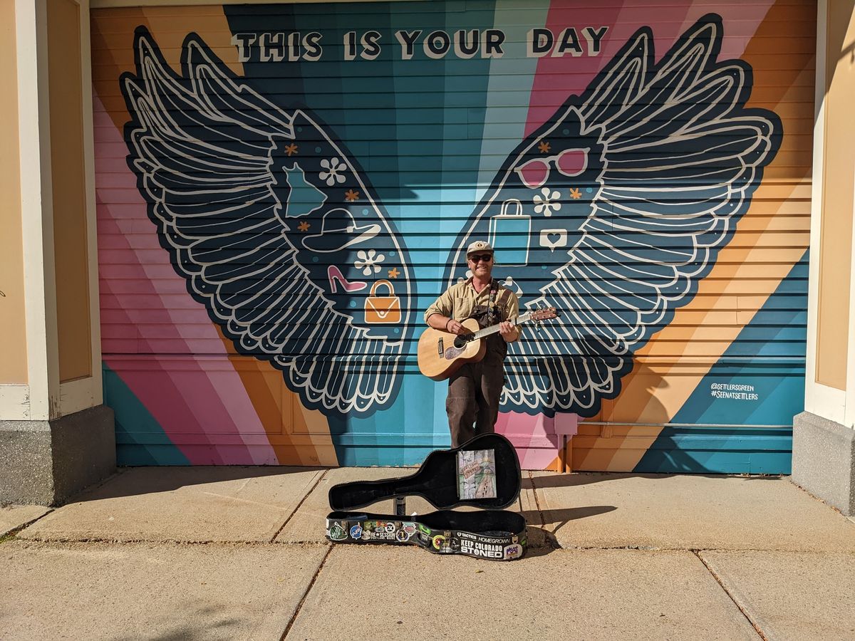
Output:
<path fill-rule="evenodd" d="M 335 511 L 327 515 L 327 538 L 334 543 L 416 544 L 434 554 L 493 561 L 518 559 L 528 544 L 526 520 L 505 510 L 441 510 L 412 517 Z"/>

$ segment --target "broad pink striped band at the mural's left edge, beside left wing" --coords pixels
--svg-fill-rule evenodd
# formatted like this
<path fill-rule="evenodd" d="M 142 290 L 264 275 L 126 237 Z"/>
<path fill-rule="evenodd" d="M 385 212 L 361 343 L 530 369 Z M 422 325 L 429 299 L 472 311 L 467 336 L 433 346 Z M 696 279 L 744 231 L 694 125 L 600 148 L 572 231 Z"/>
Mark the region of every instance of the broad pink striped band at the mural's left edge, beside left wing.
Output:
<path fill-rule="evenodd" d="M 187 294 L 184 280 L 174 273 L 157 242 L 136 178 L 125 163 L 127 148 L 119 132 L 97 97 L 94 107 L 102 314 L 113 319 L 103 321 L 104 351 L 186 355 L 144 356 L 145 367 L 152 368 L 149 372 L 140 371 L 139 357 L 105 360 L 170 438 L 192 434 L 209 443 L 207 433 L 239 436 L 242 444 L 181 448 L 193 464 L 278 462 L 215 326 L 203 306 Z M 121 321 L 122 314 L 127 321 Z M 213 357 L 196 356 L 199 353 Z M 265 444 L 259 444 L 259 435 Z M 253 446 L 246 447 L 245 441 Z"/>

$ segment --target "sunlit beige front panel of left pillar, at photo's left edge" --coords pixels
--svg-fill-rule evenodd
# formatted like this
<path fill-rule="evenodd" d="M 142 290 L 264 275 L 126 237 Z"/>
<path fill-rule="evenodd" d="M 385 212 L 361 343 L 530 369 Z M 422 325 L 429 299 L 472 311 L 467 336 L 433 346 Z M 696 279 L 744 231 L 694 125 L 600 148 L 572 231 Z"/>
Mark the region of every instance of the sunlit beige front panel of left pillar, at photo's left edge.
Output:
<path fill-rule="evenodd" d="M 0 92 L 0 384 L 26 384 L 15 3 L 8 1 L 0 3 L 0 78 L 5 85 L 5 91 Z"/>

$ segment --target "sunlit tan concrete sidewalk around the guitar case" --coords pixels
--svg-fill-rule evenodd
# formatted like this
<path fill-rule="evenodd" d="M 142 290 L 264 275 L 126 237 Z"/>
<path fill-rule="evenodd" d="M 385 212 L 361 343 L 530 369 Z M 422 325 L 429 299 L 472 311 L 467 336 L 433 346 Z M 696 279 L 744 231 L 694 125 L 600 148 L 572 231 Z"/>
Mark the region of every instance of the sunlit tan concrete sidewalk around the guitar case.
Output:
<path fill-rule="evenodd" d="M 787 479 L 524 472 L 515 562 L 326 541 L 331 485 L 411 471 L 129 468 L 2 508 L 0 637 L 855 638 L 855 523 Z"/>

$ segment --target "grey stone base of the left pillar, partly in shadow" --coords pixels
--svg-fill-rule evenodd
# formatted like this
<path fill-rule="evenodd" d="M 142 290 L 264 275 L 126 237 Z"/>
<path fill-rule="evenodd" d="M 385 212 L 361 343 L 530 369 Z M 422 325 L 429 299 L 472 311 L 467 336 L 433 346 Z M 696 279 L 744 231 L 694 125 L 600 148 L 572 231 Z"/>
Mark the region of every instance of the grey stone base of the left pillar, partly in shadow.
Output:
<path fill-rule="evenodd" d="M 106 405 L 57 420 L 0 420 L 0 503 L 58 505 L 114 472 Z"/>

